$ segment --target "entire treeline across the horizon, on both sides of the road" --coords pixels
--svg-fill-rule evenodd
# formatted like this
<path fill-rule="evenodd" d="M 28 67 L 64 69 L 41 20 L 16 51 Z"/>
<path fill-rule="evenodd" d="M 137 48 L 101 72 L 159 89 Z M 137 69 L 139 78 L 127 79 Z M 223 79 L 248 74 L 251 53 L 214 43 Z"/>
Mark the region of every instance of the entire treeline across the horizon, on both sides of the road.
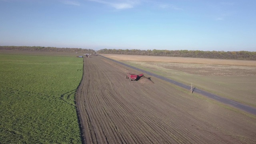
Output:
<path fill-rule="evenodd" d="M 0 46 L 0 50 L 22 50 L 22 51 L 41 51 L 41 52 L 81 52 L 94 53 L 95 50 L 83 48 L 56 48 L 44 46 Z M 98 54 L 126 54 L 141 56 L 172 56 L 190 58 L 216 58 L 234 60 L 256 60 L 256 52 L 249 51 L 202 51 L 202 50 L 122 50 L 122 49 L 102 49 Z"/>

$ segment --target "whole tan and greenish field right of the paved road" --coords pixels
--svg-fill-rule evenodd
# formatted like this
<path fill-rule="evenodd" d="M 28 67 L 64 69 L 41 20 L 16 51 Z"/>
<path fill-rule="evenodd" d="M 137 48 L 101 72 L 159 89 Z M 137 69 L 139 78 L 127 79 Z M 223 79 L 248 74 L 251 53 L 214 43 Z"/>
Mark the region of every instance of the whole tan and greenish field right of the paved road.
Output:
<path fill-rule="evenodd" d="M 102 55 L 256 107 L 256 61 Z"/>

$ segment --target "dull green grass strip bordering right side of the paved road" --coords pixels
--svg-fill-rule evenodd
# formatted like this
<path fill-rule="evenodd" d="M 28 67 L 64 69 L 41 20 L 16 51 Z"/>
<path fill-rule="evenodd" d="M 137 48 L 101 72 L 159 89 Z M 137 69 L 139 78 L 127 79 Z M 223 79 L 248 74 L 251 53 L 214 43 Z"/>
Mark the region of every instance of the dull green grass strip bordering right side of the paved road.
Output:
<path fill-rule="evenodd" d="M 162 68 L 146 62 L 122 61 L 148 72 L 176 80 L 188 86 L 212 92 L 225 98 L 256 107 L 256 76 L 202 76 Z M 159 63 L 159 62 L 158 62 Z"/>

